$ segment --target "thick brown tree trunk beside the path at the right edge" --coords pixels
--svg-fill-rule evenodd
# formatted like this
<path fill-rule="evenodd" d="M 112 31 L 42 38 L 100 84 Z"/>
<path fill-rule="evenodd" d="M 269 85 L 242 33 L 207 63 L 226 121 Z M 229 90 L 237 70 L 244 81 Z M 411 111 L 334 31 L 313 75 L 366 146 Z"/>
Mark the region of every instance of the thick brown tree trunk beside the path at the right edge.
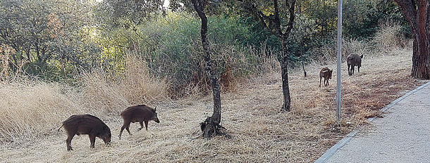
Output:
<path fill-rule="evenodd" d="M 412 77 L 430 79 L 430 2 L 395 0 L 412 31 Z"/>

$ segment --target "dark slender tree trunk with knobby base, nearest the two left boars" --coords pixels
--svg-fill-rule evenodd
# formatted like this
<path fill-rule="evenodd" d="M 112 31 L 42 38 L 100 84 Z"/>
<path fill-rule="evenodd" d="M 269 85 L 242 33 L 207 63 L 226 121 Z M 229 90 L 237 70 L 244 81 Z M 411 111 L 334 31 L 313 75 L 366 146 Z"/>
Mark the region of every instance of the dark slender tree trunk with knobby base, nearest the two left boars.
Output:
<path fill-rule="evenodd" d="M 218 77 L 216 77 L 216 73 L 213 69 L 213 63 L 211 60 L 211 53 L 209 51 L 209 42 L 207 41 L 207 17 L 204 13 L 204 1 L 201 0 L 192 0 L 192 4 L 199 15 L 199 18 L 202 20 L 202 29 L 200 31 L 200 37 L 202 38 L 202 46 L 203 46 L 203 58 L 205 61 L 206 70 L 211 79 L 212 85 L 212 94 L 214 96 L 214 113 L 211 117 L 208 117 L 204 120 L 204 122 L 200 123 L 200 129 L 202 129 L 203 136 L 206 138 L 211 138 L 216 135 L 225 135 L 221 131 L 224 129 L 219 123 L 221 122 L 221 95 L 220 88 L 218 84 Z"/>

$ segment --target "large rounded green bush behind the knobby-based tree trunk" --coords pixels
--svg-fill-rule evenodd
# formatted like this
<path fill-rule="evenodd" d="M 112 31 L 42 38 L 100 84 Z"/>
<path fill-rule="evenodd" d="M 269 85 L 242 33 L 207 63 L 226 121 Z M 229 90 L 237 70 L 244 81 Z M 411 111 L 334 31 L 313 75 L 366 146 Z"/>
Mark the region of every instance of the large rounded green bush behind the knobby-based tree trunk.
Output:
<path fill-rule="evenodd" d="M 247 25 L 226 16 L 209 17 L 208 39 L 216 72 L 230 67 L 235 77 L 245 77 L 258 71 L 258 51 L 247 44 L 252 39 Z M 209 84 L 204 71 L 200 22 L 192 16 L 169 14 L 136 28 L 137 43 L 143 58 L 154 74 L 168 77 L 175 91 L 188 86 Z"/>

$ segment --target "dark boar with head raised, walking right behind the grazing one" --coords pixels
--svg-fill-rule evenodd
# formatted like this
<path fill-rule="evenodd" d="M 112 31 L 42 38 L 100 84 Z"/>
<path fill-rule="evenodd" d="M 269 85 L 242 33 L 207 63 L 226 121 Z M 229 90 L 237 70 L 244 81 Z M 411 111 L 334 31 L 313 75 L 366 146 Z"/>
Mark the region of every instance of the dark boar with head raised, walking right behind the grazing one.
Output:
<path fill-rule="evenodd" d="M 156 107 L 153 109 L 147 105 L 135 105 L 127 107 L 123 112 L 121 112 L 121 117 L 124 119 L 124 124 L 121 127 L 121 131 L 119 132 L 119 138 L 121 139 L 121 134 L 124 129 L 127 129 L 128 134 L 130 134 L 130 123 L 139 122 L 140 128 L 138 130 L 143 129 L 143 122 L 145 122 L 145 128 L 148 130 L 148 122 L 154 121 L 159 123 L 158 117 L 156 117 Z"/>

